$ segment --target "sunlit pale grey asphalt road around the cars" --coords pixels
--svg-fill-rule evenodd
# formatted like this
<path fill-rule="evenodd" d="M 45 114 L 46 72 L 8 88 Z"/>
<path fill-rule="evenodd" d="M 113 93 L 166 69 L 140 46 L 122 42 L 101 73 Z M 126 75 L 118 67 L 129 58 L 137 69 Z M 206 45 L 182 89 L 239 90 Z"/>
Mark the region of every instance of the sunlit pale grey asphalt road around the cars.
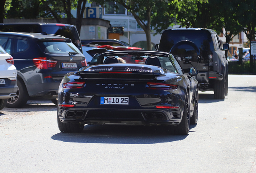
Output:
<path fill-rule="evenodd" d="M 60 133 L 56 106 L 0 111 L 0 172 L 256 172 L 256 76 L 229 75 L 224 100 L 199 93 L 187 136 L 163 127 L 87 125 Z"/>

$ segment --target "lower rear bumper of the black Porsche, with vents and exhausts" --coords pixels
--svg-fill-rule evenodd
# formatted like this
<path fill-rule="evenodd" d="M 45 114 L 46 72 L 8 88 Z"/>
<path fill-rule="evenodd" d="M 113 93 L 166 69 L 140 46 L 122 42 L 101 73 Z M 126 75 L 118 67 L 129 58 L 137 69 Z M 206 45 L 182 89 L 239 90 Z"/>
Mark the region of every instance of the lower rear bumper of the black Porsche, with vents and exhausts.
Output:
<path fill-rule="evenodd" d="M 66 109 L 58 107 L 63 123 L 113 125 L 178 125 L 181 113 L 177 109 Z M 175 112 L 175 114 L 174 114 Z"/>

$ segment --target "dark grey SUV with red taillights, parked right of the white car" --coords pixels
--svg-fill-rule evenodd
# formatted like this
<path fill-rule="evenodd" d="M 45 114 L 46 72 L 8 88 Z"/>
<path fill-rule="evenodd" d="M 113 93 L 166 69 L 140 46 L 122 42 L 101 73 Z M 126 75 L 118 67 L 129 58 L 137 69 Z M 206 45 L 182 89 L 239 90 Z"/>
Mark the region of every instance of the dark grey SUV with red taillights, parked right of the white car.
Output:
<path fill-rule="evenodd" d="M 42 96 L 57 104 L 63 76 L 86 66 L 85 56 L 63 36 L 0 32 L 0 44 L 17 68 L 18 91 L 6 107 L 23 107 L 29 96 Z"/>

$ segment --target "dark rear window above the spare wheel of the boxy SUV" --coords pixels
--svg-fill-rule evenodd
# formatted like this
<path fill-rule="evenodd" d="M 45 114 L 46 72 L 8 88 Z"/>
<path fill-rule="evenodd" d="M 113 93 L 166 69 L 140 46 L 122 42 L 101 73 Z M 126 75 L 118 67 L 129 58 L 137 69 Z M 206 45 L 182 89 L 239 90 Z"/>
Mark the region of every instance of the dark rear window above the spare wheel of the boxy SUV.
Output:
<path fill-rule="evenodd" d="M 214 50 L 208 30 L 165 30 L 161 36 L 159 50 L 170 52 L 172 46 L 182 40 L 194 42 L 200 50 Z"/>

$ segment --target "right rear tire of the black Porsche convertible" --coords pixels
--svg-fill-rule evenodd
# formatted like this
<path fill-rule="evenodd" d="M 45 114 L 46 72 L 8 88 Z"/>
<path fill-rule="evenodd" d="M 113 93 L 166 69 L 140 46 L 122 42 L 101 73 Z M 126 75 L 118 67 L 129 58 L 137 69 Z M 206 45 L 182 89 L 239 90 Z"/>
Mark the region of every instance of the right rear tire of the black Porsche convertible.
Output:
<path fill-rule="evenodd" d="M 190 125 L 190 107 L 189 107 L 188 94 L 186 94 L 182 121 L 177 126 L 169 125 L 169 128 L 170 128 L 169 132 L 171 134 L 176 134 L 176 135 L 188 135 L 189 125 Z"/>

